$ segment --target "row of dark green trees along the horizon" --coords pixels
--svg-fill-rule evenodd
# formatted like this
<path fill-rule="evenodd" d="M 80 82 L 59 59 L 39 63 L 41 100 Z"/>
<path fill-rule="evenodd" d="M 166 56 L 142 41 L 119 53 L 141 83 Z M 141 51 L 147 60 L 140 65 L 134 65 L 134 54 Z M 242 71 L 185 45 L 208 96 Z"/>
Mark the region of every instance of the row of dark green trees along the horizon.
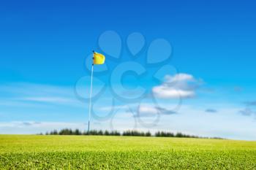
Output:
<path fill-rule="evenodd" d="M 44 135 L 44 134 L 40 134 Z M 195 135 L 187 135 L 187 134 L 182 134 L 181 132 L 178 132 L 176 134 L 172 132 L 165 132 L 165 131 L 157 131 L 155 134 L 151 134 L 150 131 L 143 132 L 143 131 L 124 131 L 122 133 L 118 131 L 102 131 L 102 130 L 92 130 L 92 131 L 85 131 L 82 132 L 79 129 L 69 129 L 69 128 L 64 128 L 61 129 L 61 131 L 50 131 L 46 132 L 45 135 L 94 135 L 94 136 L 156 136 L 156 137 L 179 137 L 179 138 L 208 138 L 208 137 L 201 137 L 201 136 L 195 136 Z M 211 139 L 221 139 L 219 137 L 214 137 Z"/>

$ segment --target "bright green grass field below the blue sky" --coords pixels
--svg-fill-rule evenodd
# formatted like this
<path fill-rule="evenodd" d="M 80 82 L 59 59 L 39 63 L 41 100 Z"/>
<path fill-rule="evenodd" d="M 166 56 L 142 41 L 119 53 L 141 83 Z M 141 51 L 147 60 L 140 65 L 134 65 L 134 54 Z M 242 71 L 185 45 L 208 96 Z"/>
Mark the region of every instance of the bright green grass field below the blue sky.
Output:
<path fill-rule="evenodd" d="M 0 169 L 256 169 L 256 142 L 0 135 Z"/>

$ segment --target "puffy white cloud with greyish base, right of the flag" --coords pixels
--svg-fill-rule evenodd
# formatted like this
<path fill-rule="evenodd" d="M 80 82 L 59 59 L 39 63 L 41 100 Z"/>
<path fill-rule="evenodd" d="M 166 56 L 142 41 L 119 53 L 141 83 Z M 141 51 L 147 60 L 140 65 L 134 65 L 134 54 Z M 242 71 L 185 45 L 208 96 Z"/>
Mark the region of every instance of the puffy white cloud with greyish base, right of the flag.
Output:
<path fill-rule="evenodd" d="M 191 98 L 195 96 L 195 90 L 200 82 L 190 74 L 167 75 L 165 82 L 154 87 L 152 92 L 157 98 Z"/>

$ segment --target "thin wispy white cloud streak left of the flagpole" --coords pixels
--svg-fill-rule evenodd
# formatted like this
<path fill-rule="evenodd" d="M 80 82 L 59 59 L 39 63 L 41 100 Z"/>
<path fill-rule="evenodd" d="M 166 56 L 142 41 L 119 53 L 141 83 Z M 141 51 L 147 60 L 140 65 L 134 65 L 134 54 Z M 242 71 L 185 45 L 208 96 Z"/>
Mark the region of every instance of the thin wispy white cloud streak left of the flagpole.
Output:
<path fill-rule="evenodd" d="M 36 106 L 38 104 L 65 104 L 79 106 L 72 87 L 16 83 L 0 86 L 1 106 Z"/>

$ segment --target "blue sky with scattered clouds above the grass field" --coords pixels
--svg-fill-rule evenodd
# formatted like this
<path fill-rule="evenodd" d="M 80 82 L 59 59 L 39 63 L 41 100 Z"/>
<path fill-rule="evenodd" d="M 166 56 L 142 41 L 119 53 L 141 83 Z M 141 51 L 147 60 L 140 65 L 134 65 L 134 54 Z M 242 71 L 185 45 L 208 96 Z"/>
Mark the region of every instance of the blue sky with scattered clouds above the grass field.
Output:
<path fill-rule="evenodd" d="M 79 96 L 88 96 L 86 58 L 97 50 L 107 60 L 96 71 L 108 71 L 95 73 L 94 93 L 102 96 L 94 111 L 108 115 L 113 98 L 116 111 L 106 120 L 95 116 L 94 128 L 255 140 L 254 7 L 255 1 L 1 2 L 0 133 L 85 129 L 88 101 Z M 154 45 L 159 39 L 170 49 L 161 41 Z M 148 64 L 150 56 L 164 55 L 166 61 Z M 118 66 L 131 72 L 111 82 Z M 135 77 L 133 69 L 143 74 Z M 121 100 L 115 92 L 129 96 L 136 87 L 146 91 L 139 101 Z M 173 114 L 157 117 L 159 110 Z"/>

